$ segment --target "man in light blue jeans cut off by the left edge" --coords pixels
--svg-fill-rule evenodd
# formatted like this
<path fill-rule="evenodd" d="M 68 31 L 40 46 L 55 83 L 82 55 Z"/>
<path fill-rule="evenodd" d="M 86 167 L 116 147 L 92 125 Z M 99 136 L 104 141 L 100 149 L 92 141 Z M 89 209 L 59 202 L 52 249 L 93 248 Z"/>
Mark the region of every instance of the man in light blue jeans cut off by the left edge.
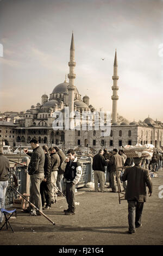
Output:
<path fill-rule="evenodd" d="M 3 147 L 0 146 L 0 208 L 5 206 L 5 193 L 8 186 L 10 164 L 3 155 Z M 4 214 L 0 211 L 0 223 L 3 222 Z"/>

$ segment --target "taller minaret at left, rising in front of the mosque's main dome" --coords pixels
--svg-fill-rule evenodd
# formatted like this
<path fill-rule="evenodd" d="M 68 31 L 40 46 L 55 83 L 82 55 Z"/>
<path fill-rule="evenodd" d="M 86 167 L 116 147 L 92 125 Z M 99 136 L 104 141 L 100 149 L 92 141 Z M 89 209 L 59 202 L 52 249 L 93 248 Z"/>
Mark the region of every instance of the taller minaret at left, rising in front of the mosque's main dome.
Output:
<path fill-rule="evenodd" d="M 68 62 L 68 66 L 70 66 L 70 74 L 68 74 L 69 85 L 68 89 L 68 106 L 70 112 L 70 128 L 73 128 L 73 118 L 74 118 L 74 79 L 76 78 L 76 74 L 74 74 L 74 67 L 76 66 L 76 62 L 74 62 L 74 41 L 73 41 L 73 32 L 71 39 L 71 47 L 70 47 L 70 62 Z"/>

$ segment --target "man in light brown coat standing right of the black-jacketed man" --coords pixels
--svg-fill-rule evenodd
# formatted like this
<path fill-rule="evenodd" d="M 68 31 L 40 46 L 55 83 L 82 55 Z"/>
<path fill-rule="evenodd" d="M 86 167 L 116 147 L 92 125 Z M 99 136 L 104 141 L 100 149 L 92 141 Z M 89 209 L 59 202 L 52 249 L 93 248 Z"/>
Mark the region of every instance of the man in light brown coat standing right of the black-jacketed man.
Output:
<path fill-rule="evenodd" d="M 116 169 L 118 167 L 122 167 L 123 164 L 122 164 L 122 156 L 118 155 L 118 150 L 114 149 L 112 151 L 113 151 L 113 155 L 111 156 L 111 160 L 108 162 L 108 165 L 110 166 L 111 188 L 112 188 L 112 191 L 110 192 L 116 193 Z M 120 184 L 120 191 L 122 191 L 121 180 L 120 180 L 121 170 L 118 170 L 118 181 Z"/>

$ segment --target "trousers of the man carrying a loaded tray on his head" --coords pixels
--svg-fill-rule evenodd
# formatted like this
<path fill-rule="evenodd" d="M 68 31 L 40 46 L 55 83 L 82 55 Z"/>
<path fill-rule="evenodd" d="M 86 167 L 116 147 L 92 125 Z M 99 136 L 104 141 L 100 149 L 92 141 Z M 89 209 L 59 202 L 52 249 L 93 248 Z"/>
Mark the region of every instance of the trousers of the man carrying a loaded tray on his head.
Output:
<path fill-rule="evenodd" d="M 128 200 L 128 224 L 129 231 L 135 231 L 135 226 L 140 227 L 143 202 Z M 136 214 L 135 214 L 136 210 Z"/>

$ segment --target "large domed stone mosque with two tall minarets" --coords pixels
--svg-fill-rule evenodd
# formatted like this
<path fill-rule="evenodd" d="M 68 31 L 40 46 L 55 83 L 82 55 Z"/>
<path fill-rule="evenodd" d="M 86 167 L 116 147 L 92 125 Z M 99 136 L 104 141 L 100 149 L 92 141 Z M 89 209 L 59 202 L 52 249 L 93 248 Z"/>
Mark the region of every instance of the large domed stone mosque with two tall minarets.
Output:
<path fill-rule="evenodd" d="M 146 118 L 142 123 L 135 121 L 128 123 L 127 121 L 120 122 L 117 120 L 117 101 L 118 101 L 118 76 L 117 76 L 117 53 L 115 52 L 114 59 L 114 75 L 112 76 L 112 120 L 110 124 L 106 123 L 104 119 L 103 128 L 99 129 L 96 124 L 98 112 L 96 108 L 90 105 L 89 96 L 82 95 L 74 86 L 74 68 L 76 66 L 74 56 L 74 38 L 72 33 L 71 47 L 70 47 L 70 74 L 68 74 L 69 82 L 65 77 L 63 83 L 54 87 L 53 92 L 49 95 L 43 94 L 41 103 L 36 106 L 31 106 L 26 111 L 25 118 L 19 120 L 17 127 L 17 144 L 27 144 L 31 138 L 38 139 L 40 144 L 47 144 L 49 147 L 58 145 L 62 150 L 66 151 L 69 148 L 75 148 L 81 151 L 95 151 L 102 148 L 102 145 L 108 150 L 113 148 L 121 148 L 124 145 L 135 145 L 136 143 L 155 145 L 155 148 L 162 148 L 163 146 L 163 124 L 160 121 L 154 121 L 152 118 Z M 66 124 L 62 125 L 55 122 L 59 118 L 59 113 L 62 113 L 64 120 L 67 118 L 65 109 L 68 107 L 70 111 L 70 127 L 66 129 Z M 86 129 L 82 127 L 81 116 L 83 112 L 91 114 L 92 126 L 89 126 L 89 118 L 84 118 Z M 58 114 L 56 114 L 58 113 Z M 78 118 L 76 118 L 78 113 Z M 74 119 L 78 122 L 74 121 Z M 71 128 L 73 123 L 74 129 Z M 55 125 L 54 125 L 55 124 Z M 111 130 L 108 136 L 104 136 L 104 130 L 111 125 Z"/>

